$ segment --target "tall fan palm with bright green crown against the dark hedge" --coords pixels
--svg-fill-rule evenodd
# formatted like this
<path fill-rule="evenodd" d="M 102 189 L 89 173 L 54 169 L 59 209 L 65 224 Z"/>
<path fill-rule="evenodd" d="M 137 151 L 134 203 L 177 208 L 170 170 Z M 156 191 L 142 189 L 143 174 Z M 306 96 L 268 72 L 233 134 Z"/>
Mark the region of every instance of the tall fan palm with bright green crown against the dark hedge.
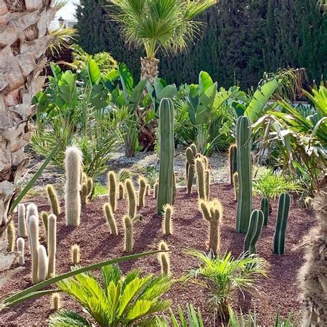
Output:
<path fill-rule="evenodd" d="M 158 75 L 157 51 L 184 50 L 194 39 L 201 23 L 193 19 L 213 6 L 217 0 L 111 0 L 113 13 L 129 43 L 143 46 L 141 78 L 153 83 Z"/>

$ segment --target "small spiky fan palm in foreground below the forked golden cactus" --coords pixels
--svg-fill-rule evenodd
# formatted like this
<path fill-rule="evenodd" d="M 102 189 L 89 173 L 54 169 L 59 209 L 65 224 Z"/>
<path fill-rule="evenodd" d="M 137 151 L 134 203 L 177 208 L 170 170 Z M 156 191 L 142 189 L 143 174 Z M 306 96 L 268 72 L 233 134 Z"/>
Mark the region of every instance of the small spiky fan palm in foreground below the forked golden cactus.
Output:
<path fill-rule="evenodd" d="M 237 259 L 229 252 L 224 256 L 197 250 L 189 250 L 188 254 L 199 259 L 199 268 L 190 270 L 187 279 L 207 288 L 210 294 L 210 305 L 221 317 L 228 317 L 230 302 L 237 290 L 260 295 L 255 286 L 258 277 L 267 275 L 267 264 L 256 255 L 243 254 Z"/>

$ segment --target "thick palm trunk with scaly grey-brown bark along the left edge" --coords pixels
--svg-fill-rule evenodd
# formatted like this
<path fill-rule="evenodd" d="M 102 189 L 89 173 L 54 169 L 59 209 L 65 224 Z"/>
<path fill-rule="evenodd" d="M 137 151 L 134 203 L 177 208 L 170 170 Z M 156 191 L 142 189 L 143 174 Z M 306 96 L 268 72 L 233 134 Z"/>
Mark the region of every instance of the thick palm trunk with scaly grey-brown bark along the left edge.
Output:
<path fill-rule="evenodd" d="M 46 77 L 39 76 L 51 43 L 48 27 L 59 9 L 52 0 L 0 0 L 0 226 L 19 188 L 28 159 L 28 120 L 32 97 Z"/>

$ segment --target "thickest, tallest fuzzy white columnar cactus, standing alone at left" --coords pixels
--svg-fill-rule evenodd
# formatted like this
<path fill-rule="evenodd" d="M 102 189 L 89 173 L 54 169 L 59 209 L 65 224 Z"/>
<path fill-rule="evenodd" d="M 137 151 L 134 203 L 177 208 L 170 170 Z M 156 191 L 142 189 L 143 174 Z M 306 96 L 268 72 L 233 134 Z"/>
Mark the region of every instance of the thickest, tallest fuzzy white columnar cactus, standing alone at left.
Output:
<path fill-rule="evenodd" d="M 65 157 L 66 187 L 65 211 L 66 225 L 79 226 L 81 219 L 81 151 L 72 146 L 67 148 Z"/>

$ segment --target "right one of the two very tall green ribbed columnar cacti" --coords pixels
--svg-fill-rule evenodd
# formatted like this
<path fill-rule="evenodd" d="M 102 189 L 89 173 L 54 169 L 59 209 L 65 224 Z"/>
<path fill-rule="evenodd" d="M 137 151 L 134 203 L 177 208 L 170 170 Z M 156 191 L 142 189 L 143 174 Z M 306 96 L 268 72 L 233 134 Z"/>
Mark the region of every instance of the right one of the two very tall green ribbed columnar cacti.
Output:
<path fill-rule="evenodd" d="M 252 211 L 252 159 L 250 120 L 246 116 L 237 119 L 237 174 L 239 194 L 237 197 L 236 231 L 248 230 Z"/>

